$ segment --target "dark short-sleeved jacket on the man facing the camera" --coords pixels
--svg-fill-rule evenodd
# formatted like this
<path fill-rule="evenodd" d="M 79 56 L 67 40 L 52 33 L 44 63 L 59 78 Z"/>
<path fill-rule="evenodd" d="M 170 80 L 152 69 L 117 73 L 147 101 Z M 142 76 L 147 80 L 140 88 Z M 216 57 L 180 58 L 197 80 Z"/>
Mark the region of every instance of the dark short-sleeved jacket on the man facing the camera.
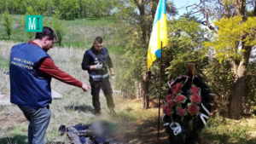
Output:
<path fill-rule="evenodd" d="M 90 70 L 90 66 L 102 62 L 103 66 L 100 70 Z M 86 50 L 82 62 L 82 69 L 88 71 L 90 78 L 95 81 L 100 81 L 103 78 L 108 78 L 108 68 L 112 68 L 113 63 L 108 54 L 108 49 L 102 48 L 97 51 L 93 46 Z"/>

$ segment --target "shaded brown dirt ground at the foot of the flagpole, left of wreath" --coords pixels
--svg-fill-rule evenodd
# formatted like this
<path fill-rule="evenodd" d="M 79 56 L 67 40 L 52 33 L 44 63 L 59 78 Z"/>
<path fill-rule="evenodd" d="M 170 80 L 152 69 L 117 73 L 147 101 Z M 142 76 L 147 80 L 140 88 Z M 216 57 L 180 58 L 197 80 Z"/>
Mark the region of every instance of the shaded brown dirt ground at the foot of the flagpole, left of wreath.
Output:
<path fill-rule="evenodd" d="M 133 100 L 128 103 L 130 104 L 127 104 L 126 106 L 123 105 L 121 107 L 129 107 L 129 111 L 133 112 L 132 114 L 135 116 L 144 114 L 144 118 L 128 124 L 121 123 L 122 126 L 119 126 L 120 129 L 116 135 L 113 135 L 112 139 L 109 139 L 109 141 L 111 141 L 113 144 L 166 143 L 167 135 L 162 124 L 160 124 L 160 141 L 158 141 L 158 108 L 154 107 L 149 108 L 148 110 L 140 111 L 140 101 Z"/>

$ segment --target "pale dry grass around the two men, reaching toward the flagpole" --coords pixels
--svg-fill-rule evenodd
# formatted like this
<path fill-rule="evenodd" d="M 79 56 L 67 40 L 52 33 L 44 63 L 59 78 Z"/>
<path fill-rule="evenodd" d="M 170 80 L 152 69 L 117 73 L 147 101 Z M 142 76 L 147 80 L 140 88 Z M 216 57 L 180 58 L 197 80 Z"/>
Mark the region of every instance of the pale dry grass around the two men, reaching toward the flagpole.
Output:
<path fill-rule="evenodd" d="M 8 59 L 9 49 L 13 44 L 0 41 L 1 58 L 3 60 Z M 83 72 L 80 67 L 83 54 L 84 50 L 82 49 L 70 49 L 67 47 L 56 47 L 49 50 L 49 55 L 55 60 L 56 66 L 59 66 L 61 70 L 70 73 L 74 78 L 81 80 L 85 84 L 89 84 L 87 72 Z M 2 55 L 5 56 L 3 57 Z M 115 58 L 115 55 L 113 55 L 113 60 Z M 0 69 L 1 92 L 9 94 L 9 77 L 4 76 L 2 73 L 3 69 Z M 91 112 L 92 99 L 90 92 L 84 93 L 82 89 L 63 84 L 55 79 L 53 79 L 51 87 L 63 95 L 63 98 L 61 100 L 54 100 L 50 105 L 52 116 L 46 135 L 47 143 L 54 143 L 56 141 L 67 143 L 67 137 L 61 136 L 58 132 L 61 124 L 88 124 L 99 119 L 116 125 L 118 135 L 115 135 L 117 137 L 113 136 L 115 140 L 131 141 L 136 138 L 137 141 L 143 141 L 144 139 L 141 140 L 138 135 L 134 135 L 136 134 L 134 132 L 131 133 L 129 139 L 126 139 L 126 132 L 137 131 L 143 121 L 146 121 L 147 123 L 145 124 L 148 124 L 148 122 L 154 121 L 157 116 L 157 110 L 143 111 L 140 101 L 126 100 L 118 96 L 114 97 L 118 114 L 113 116 L 108 114 L 109 110 L 106 99 L 101 94 L 102 117 L 96 117 Z M 26 143 L 27 140 L 24 136 L 26 136 L 28 122 L 23 113 L 15 105 L 0 108 L 0 144 L 7 143 L 7 141 Z M 134 125 L 131 127 L 131 124 Z M 130 127 L 131 130 L 129 130 Z"/>

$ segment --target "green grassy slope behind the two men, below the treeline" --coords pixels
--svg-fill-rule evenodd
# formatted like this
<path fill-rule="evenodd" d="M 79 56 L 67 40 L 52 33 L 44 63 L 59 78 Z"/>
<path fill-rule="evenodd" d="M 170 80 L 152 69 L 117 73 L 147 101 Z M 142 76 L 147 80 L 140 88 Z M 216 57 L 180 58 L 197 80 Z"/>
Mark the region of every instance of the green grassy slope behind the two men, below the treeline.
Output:
<path fill-rule="evenodd" d="M 29 41 L 26 36 L 26 29 L 21 25 L 25 15 L 11 15 L 13 20 L 14 32 L 9 41 L 24 43 Z M 44 26 L 52 26 L 52 17 L 44 16 Z M 61 20 L 65 28 L 65 36 L 62 40 L 62 46 L 78 49 L 90 49 L 95 37 L 103 37 L 107 48 L 115 47 L 113 35 L 116 32 L 116 26 L 112 18 L 93 19 L 85 18 L 78 20 Z M 0 14 L 0 40 L 8 40 L 8 35 L 2 25 L 3 14 Z M 33 37 L 32 37 L 33 39 Z M 57 45 L 57 44 L 56 44 Z"/>

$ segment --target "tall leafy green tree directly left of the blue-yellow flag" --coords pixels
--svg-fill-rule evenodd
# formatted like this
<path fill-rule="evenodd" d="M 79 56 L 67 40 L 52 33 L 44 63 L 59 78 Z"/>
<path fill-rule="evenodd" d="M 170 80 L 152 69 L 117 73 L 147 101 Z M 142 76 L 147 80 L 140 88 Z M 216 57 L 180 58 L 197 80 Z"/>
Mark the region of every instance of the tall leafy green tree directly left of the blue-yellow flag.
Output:
<path fill-rule="evenodd" d="M 119 39 L 122 35 L 120 45 L 125 48 L 122 59 L 125 61 L 125 66 L 130 67 L 129 70 L 123 70 L 122 68 L 125 66 L 122 65 L 120 70 L 123 71 L 120 73 L 125 75 L 126 83 L 129 81 L 129 84 L 134 85 L 135 81 L 138 81 L 142 84 L 143 108 L 149 107 L 151 87 L 155 90 L 155 84 L 152 84 L 153 86 L 149 84 L 151 72 L 147 72 L 146 59 L 148 41 L 158 2 L 158 0 L 122 0 L 119 1 L 119 13 L 116 15 L 119 23 L 125 27 L 125 30 L 120 30 L 122 33 L 119 33 L 118 36 Z M 167 5 L 167 8 L 171 8 L 170 5 Z M 172 9 L 172 11 L 175 10 Z M 125 87 L 125 84 L 120 84 L 120 87 Z"/>

